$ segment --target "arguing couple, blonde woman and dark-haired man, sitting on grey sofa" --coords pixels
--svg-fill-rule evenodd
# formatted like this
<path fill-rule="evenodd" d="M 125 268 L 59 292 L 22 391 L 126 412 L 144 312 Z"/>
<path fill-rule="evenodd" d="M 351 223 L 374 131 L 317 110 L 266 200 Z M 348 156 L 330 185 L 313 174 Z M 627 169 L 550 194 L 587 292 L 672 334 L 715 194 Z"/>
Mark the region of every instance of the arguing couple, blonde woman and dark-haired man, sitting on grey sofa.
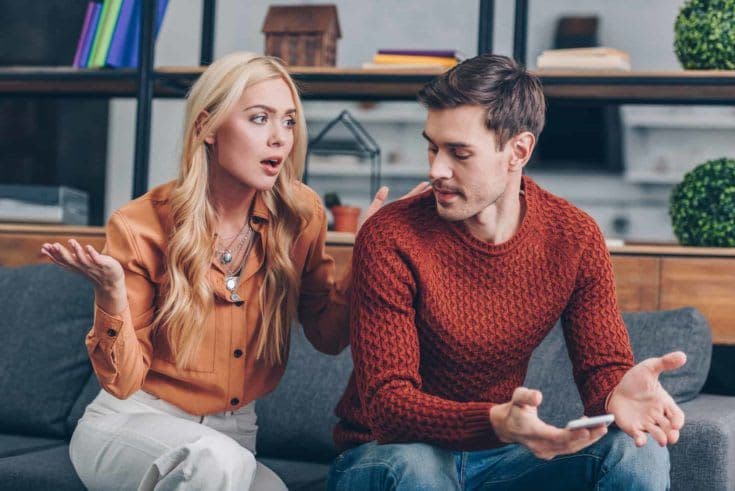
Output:
<path fill-rule="evenodd" d="M 658 376 L 685 356 L 634 366 L 600 230 L 522 175 L 538 79 L 481 55 L 419 99 L 432 191 L 377 211 L 378 193 L 342 282 L 299 183 L 296 87 L 249 54 L 192 87 L 179 178 L 116 211 L 103 253 L 44 244 L 94 285 L 86 345 L 104 390 L 70 445 L 87 487 L 285 488 L 255 460 L 254 402 L 283 375 L 296 318 L 320 351 L 353 353 L 331 489 L 668 487 L 684 415 Z M 521 387 L 560 317 L 585 413 L 614 415 L 609 432 L 545 424 Z"/>

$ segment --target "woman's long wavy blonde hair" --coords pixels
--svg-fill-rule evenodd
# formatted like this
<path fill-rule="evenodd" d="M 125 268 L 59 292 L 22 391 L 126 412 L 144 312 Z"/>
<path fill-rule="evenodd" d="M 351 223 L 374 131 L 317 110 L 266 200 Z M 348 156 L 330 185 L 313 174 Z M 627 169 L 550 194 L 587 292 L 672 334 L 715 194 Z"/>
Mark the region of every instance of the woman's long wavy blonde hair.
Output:
<path fill-rule="evenodd" d="M 180 368 L 190 364 L 204 338 L 214 304 L 208 281 L 217 212 L 209 195 L 211 151 L 204 138 L 214 133 L 248 86 L 282 79 L 297 111 L 294 145 L 275 185 L 262 193 L 269 225 L 264 281 L 259 291 L 261 321 L 256 356 L 283 363 L 291 323 L 297 315 L 299 272 L 290 251 L 311 208 L 298 203 L 293 186 L 301 179 L 306 156 L 306 124 L 298 90 L 281 63 L 252 53 L 232 53 L 212 63 L 187 96 L 179 177 L 171 193 L 172 232 L 166 257 L 162 303 L 154 320 Z"/>

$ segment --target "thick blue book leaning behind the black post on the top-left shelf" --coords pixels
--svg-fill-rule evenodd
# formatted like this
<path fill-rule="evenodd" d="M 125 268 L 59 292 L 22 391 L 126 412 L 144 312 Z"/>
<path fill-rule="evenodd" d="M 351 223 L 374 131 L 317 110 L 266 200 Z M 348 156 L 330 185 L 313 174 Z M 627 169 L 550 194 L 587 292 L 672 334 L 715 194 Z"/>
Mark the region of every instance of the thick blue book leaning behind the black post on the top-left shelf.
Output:
<path fill-rule="evenodd" d="M 135 68 L 140 50 L 140 21 L 142 0 L 122 0 L 120 15 L 112 35 L 105 66 Z M 157 1 L 154 39 L 158 36 L 168 0 Z"/>

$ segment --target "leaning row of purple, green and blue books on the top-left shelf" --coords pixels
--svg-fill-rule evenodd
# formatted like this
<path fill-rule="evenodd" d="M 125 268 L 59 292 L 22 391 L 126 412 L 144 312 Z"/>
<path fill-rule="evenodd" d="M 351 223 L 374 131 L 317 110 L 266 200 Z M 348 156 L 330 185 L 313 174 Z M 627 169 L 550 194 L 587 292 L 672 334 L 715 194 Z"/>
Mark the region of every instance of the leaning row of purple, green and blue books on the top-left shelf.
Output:
<path fill-rule="evenodd" d="M 168 0 L 156 0 L 156 29 L 163 22 Z M 89 0 L 77 41 L 77 68 L 137 67 L 143 0 Z"/>

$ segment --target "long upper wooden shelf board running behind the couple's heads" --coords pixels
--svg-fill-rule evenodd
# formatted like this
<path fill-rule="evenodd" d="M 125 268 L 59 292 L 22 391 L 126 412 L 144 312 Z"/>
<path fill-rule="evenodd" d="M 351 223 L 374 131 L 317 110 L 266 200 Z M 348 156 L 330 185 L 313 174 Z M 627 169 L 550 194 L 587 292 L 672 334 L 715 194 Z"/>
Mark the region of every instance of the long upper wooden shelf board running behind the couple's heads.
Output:
<path fill-rule="evenodd" d="M 156 97 L 180 98 L 203 67 L 160 67 Z M 359 68 L 293 67 L 304 99 L 413 100 L 442 72 Z M 668 72 L 539 71 L 550 99 L 609 103 L 735 104 L 735 71 Z M 0 68 L 0 95 L 135 97 L 133 69 L 71 67 Z"/>

